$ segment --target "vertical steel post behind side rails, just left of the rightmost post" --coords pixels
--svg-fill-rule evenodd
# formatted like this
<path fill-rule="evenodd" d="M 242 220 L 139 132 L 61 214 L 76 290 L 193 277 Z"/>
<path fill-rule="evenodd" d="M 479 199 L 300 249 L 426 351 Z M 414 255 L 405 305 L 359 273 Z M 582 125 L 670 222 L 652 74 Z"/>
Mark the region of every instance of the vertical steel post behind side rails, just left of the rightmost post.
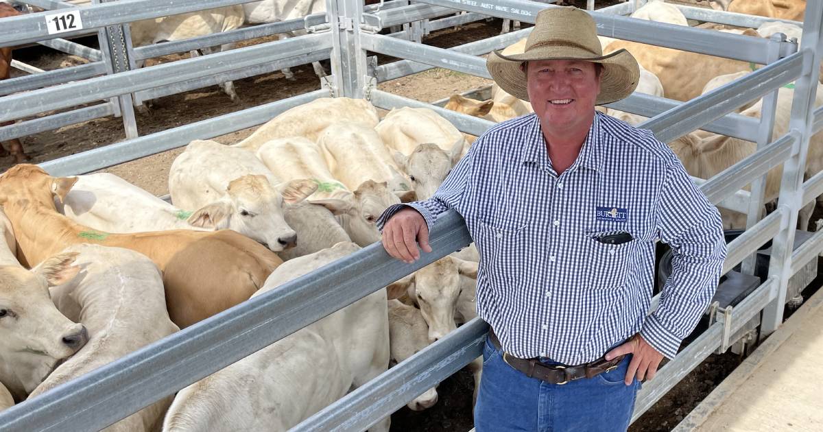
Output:
<path fill-rule="evenodd" d="M 776 42 L 783 42 L 785 35 L 772 35 L 772 40 L 775 44 L 770 45 L 769 58 L 767 64 L 774 63 L 780 59 L 780 46 Z M 777 98 L 780 89 L 775 89 L 768 95 L 763 96 L 763 104 L 760 109 L 760 128 L 757 129 L 757 150 L 768 146 L 772 141 L 772 132 L 774 131 L 774 115 L 777 111 Z M 766 174 L 763 177 L 751 183 L 751 195 L 749 197 L 749 213 L 746 216 L 746 229 L 751 228 L 760 219 L 763 218 L 763 200 L 765 196 Z M 742 272 L 747 275 L 755 274 L 755 265 L 757 260 L 757 253 L 752 253 L 751 256 L 743 260 Z"/>

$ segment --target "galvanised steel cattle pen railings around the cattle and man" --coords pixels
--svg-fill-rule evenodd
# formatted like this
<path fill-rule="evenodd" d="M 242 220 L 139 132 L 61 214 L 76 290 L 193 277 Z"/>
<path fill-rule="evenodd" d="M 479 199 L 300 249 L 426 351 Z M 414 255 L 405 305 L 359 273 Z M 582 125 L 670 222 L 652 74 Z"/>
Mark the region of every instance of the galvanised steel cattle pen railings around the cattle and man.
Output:
<path fill-rule="evenodd" d="M 412 4 L 395 0 L 369 7 L 364 7 L 361 0 L 328 0 L 325 15 L 133 48 L 128 43 L 129 22 L 244 1 L 95 0 L 95 4 L 87 7 L 75 7 L 58 0 L 26 0 L 26 3 L 47 11 L 4 20 L 0 46 L 47 41 L 46 44 L 81 53 L 93 61 L 66 70 L 0 82 L 0 122 L 100 103 L 4 126 L 0 128 L 0 141 L 113 114 L 123 117 L 128 137 L 123 142 L 41 164 L 52 175 L 84 174 L 185 146 L 193 139 L 208 139 L 253 127 L 286 109 L 328 96 L 365 98 L 382 109 L 426 106 L 435 109 L 460 131 L 480 135 L 494 123 L 379 91 L 376 85 L 433 67 L 488 78 L 485 58 L 480 55 L 503 49 L 527 35 L 528 29 L 455 49 L 421 44 L 421 29 L 432 23 L 453 26 L 482 16 L 533 23 L 537 12 L 548 7 L 545 3 L 527 0 L 417 0 Z M 708 329 L 682 349 L 675 360 L 668 362 L 657 379 L 644 384 L 638 393 L 633 420 L 711 353 L 727 351 L 746 337 L 752 320 L 759 322 L 761 336 L 775 332 L 783 322 L 783 305 L 794 294 L 788 289 L 790 279 L 823 251 L 823 230 L 818 230 L 799 248 L 791 246 L 795 242 L 798 212 L 823 194 L 823 173 L 805 182 L 803 177 L 809 139 L 823 128 L 823 108 L 814 106 L 818 65 L 823 56 L 823 2 L 808 2 L 805 21 L 796 23 L 803 27 L 799 46 L 783 35 L 758 39 L 626 17 L 638 3 L 625 2 L 591 12 L 597 21 L 598 34 L 765 65 L 685 103 L 635 93 L 609 106 L 651 117 L 641 127 L 652 130 L 663 142 L 671 142 L 696 129 L 757 142 L 755 154 L 714 178 L 701 181 L 700 189 L 718 207 L 748 215 L 746 231 L 728 244 L 723 273 L 740 263 L 743 263 L 743 272 L 751 273 L 754 253 L 769 241 L 773 247 L 765 281 L 740 304 L 725 309 L 713 307 Z M 468 13 L 423 23 L 423 20 L 460 11 Z M 767 20 L 695 7 L 681 7 L 681 11 L 690 19 L 735 26 L 751 27 Z M 81 28 L 54 33 L 48 20 L 60 14 L 76 16 L 82 23 Z M 384 28 L 408 23 L 417 24 L 407 25 L 392 35 L 379 33 Z M 90 34 L 90 30 L 91 34 L 98 35 L 100 50 L 56 39 Z M 135 68 L 134 62 L 138 59 L 292 30 L 307 30 L 307 34 L 156 67 Z M 369 53 L 401 60 L 378 65 Z M 332 74 L 323 80 L 323 89 L 319 91 L 137 136 L 132 111 L 136 102 L 322 59 L 330 59 Z M 771 140 L 777 91 L 789 83 L 793 83 L 795 89 L 789 131 Z M 729 114 L 760 97 L 764 98 L 761 118 Z M 765 174 L 779 165 L 783 165 L 779 205 L 764 217 L 760 207 L 764 201 Z M 750 183 L 751 191 L 742 190 Z M 291 281 L 280 290 L 239 304 L 2 411 L 0 430 L 103 429 L 471 242 L 462 218 L 449 211 L 440 217 L 431 234 L 434 252 L 414 264 L 393 260 L 380 244 L 373 244 Z M 334 288 L 330 290 L 330 286 Z M 655 304 L 656 301 L 653 308 Z M 294 430 L 368 428 L 477 358 L 487 331 L 486 323 L 479 319 L 459 327 L 319 411 Z"/>

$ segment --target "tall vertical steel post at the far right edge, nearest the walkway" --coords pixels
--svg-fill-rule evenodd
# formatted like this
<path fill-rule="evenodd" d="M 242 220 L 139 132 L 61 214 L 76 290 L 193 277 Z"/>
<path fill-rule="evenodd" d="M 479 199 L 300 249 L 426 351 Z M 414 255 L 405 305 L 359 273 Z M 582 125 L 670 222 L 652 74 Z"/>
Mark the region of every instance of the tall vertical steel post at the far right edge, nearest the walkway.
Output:
<path fill-rule="evenodd" d="M 804 55 L 803 73 L 797 79 L 792 102 L 792 118 L 789 130 L 796 132 L 797 152 L 783 164 L 783 179 L 780 182 L 779 206 L 788 207 L 788 224 L 772 242 L 769 274 L 779 276 L 779 288 L 775 299 L 763 309 L 763 324 L 760 337 L 768 336 L 783 323 L 783 305 L 786 303 L 788 279 L 792 276 L 792 245 L 794 244 L 797 212 L 803 207 L 802 182 L 806 168 L 809 138 L 814 123 L 814 105 L 817 80 L 821 63 L 821 24 L 823 24 L 823 2 L 807 2 L 806 20 L 803 22 L 803 39 L 800 52 Z"/>

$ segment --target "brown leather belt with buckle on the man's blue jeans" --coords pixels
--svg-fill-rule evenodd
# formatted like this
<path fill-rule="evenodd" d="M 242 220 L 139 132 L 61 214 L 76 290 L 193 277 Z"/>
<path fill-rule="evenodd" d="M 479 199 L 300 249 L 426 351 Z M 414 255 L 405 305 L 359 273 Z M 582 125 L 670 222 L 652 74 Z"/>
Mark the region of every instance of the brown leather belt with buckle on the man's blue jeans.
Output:
<path fill-rule="evenodd" d="M 495 349 L 503 351 L 500 341 L 495 336 L 495 332 L 489 331 L 489 339 Z M 565 365 L 543 365 L 537 358 L 521 359 L 503 351 L 503 361 L 514 369 L 523 372 L 528 378 L 536 378 L 546 383 L 562 385 L 575 379 L 593 378 L 598 374 L 615 369 L 623 360 L 625 355 L 620 355 L 611 360 L 601 357 L 591 363 L 579 366 Z"/>

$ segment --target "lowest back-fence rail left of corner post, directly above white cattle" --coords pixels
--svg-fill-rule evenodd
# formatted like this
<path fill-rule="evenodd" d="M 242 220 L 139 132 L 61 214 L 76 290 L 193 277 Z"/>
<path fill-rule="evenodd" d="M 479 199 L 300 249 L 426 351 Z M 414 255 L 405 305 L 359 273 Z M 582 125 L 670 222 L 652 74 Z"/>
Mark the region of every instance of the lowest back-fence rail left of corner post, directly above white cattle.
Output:
<path fill-rule="evenodd" d="M 265 105 L 223 114 L 196 123 L 189 123 L 178 128 L 167 129 L 143 137 L 83 151 L 58 160 L 49 160 L 41 163 L 40 166 L 54 176 L 86 174 L 109 166 L 119 165 L 129 160 L 182 147 L 192 142 L 192 140 L 220 137 L 226 135 L 226 133 L 251 128 L 266 123 L 270 118 L 281 114 L 286 109 L 307 104 L 323 96 L 328 96 L 328 91 L 311 91 L 289 99 L 277 100 Z"/>

